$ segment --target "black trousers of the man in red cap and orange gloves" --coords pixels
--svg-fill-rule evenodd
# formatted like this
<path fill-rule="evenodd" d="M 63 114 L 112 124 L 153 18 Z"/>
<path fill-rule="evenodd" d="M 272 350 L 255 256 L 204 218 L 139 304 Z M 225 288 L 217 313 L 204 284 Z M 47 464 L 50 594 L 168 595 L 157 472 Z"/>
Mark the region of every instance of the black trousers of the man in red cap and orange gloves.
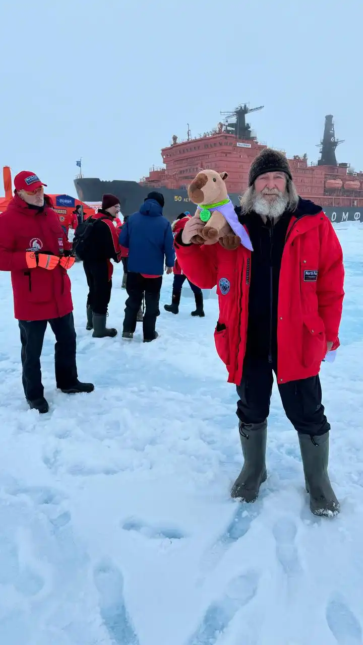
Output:
<path fill-rule="evenodd" d="M 69 388 L 78 376 L 73 313 L 49 321 L 19 321 L 23 388 L 28 401 L 41 399 L 44 395 L 40 356 L 48 323 L 56 337 L 54 361 L 57 388 L 61 390 Z"/>

